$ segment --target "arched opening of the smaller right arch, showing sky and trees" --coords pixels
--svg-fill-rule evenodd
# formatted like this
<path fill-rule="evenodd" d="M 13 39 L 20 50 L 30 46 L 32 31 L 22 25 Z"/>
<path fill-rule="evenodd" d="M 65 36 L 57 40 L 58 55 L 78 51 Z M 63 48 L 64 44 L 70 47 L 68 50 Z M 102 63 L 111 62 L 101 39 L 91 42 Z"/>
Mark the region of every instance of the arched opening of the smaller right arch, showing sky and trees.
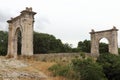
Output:
<path fill-rule="evenodd" d="M 109 41 L 107 38 L 102 38 L 99 41 L 99 53 L 108 53 L 109 52 Z"/>

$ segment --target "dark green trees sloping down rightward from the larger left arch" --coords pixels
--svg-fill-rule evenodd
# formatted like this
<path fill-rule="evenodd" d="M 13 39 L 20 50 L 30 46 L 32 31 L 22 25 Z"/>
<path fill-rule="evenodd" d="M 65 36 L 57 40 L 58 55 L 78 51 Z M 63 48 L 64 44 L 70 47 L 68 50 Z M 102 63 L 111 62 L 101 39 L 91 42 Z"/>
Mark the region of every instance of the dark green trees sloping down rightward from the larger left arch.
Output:
<path fill-rule="evenodd" d="M 58 53 L 69 52 L 71 47 L 69 44 L 63 44 L 60 39 L 56 39 L 53 35 L 34 32 L 34 53 Z"/>

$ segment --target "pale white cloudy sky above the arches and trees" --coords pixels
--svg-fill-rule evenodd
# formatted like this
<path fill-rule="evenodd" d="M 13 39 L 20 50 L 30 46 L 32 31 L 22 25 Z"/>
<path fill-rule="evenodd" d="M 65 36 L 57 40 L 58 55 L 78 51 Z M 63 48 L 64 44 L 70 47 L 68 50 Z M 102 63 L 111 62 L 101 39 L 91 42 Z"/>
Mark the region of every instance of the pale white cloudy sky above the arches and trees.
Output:
<path fill-rule="evenodd" d="M 0 30 L 8 30 L 6 21 L 25 7 L 37 12 L 35 31 L 52 34 L 73 47 L 90 40 L 91 29 L 107 30 L 114 25 L 120 30 L 120 0 L 0 0 Z"/>

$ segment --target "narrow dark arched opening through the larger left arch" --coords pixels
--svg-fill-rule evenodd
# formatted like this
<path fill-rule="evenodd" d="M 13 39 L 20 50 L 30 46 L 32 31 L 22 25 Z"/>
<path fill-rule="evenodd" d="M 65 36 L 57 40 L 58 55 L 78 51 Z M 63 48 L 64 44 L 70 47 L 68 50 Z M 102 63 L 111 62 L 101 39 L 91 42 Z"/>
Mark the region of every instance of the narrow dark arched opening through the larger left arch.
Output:
<path fill-rule="evenodd" d="M 17 54 L 18 55 L 21 55 L 21 46 L 22 46 L 21 42 L 22 42 L 21 31 L 18 28 L 17 29 Z"/>

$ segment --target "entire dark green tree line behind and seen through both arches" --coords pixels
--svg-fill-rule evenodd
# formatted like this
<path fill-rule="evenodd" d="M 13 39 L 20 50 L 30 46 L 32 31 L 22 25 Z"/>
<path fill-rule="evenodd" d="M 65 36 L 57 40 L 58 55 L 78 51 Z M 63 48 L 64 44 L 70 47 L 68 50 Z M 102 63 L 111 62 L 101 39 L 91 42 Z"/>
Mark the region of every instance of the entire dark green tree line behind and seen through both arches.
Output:
<path fill-rule="evenodd" d="M 33 49 L 34 54 L 40 53 L 61 53 L 61 52 L 86 52 L 90 53 L 90 40 L 79 41 L 76 48 L 72 48 L 68 43 L 62 43 L 55 36 L 34 32 Z M 8 45 L 8 32 L 0 31 L 0 55 L 6 55 Z M 108 44 L 100 43 L 100 53 L 108 52 Z M 21 33 L 18 33 L 18 53 L 21 53 Z"/>

